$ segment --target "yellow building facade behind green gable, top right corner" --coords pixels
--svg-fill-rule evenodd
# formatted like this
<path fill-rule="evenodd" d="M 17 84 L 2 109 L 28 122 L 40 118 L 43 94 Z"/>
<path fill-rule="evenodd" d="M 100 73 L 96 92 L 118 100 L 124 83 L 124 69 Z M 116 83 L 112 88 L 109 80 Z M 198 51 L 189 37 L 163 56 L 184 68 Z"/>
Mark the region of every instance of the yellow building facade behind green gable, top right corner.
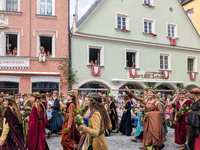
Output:
<path fill-rule="evenodd" d="M 200 0 L 182 0 L 182 6 L 200 34 Z"/>

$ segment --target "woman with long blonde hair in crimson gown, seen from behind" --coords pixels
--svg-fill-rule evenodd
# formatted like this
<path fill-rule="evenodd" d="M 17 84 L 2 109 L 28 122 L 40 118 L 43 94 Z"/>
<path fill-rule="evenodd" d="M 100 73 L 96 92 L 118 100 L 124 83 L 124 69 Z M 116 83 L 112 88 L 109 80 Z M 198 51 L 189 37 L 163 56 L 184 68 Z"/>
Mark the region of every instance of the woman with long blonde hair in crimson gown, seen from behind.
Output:
<path fill-rule="evenodd" d="M 31 94 L 33 107 L 29 116 L 29 129 L 26 140 L 28 150 L 49 150 L 46 142 L 45 125 L 47 124 L 46 110 L 38 92 Z"/>

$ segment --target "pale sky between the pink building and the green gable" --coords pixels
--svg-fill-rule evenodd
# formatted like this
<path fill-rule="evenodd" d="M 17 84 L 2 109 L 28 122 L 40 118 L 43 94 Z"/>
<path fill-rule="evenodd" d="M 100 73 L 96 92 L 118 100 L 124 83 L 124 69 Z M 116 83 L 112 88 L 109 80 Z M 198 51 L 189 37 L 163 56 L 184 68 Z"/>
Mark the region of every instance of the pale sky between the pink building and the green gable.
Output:
<path fill-rule="evenodd" d="M 85 12 L 90 8 L 95 0 L 78 0 L 78 18 L 80 19 Z M 75 14 L 76 0 L 70 0 L 70 26 L 73 22 L 73 14 Z"/>

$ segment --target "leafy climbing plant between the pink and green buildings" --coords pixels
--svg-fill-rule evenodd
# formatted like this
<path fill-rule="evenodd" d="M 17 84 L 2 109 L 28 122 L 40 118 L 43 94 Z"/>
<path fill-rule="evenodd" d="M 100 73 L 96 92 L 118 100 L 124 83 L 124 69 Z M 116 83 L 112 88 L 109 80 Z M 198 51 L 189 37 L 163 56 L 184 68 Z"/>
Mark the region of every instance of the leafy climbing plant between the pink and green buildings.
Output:
<path fill-rule="evenodd" d="M 69 57 L 65 57 L 61 60 L 58 69 L 63 72 L 64 80 L 61 81 L 61 86 L 71 87 L 76 83 L 77 71 L 70 67 L 71 61 Z"/>

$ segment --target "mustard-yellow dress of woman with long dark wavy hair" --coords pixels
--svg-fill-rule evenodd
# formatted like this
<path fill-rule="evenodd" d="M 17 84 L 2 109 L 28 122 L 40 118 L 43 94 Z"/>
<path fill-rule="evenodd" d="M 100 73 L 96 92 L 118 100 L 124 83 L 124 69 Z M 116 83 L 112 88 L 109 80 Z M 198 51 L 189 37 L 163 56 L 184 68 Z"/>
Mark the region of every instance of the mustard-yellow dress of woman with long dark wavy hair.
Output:
<path fill-rule="evenodd" d="M 89 127 L 86 126 L 83 127 L 83 132 L 86 133 L 87 136 L 82 150 L 86 150 L 90 140 L 90 136 L 94 137 L 92 142 L 94 150 L 108 150 L 108 145 L 105 135 L 102 134 L 99 136 L 100 131 L 104 132 L 104 121 L 103 118 L 101 117 L 100 112 L 95 111 L 89 120 Z"/>

